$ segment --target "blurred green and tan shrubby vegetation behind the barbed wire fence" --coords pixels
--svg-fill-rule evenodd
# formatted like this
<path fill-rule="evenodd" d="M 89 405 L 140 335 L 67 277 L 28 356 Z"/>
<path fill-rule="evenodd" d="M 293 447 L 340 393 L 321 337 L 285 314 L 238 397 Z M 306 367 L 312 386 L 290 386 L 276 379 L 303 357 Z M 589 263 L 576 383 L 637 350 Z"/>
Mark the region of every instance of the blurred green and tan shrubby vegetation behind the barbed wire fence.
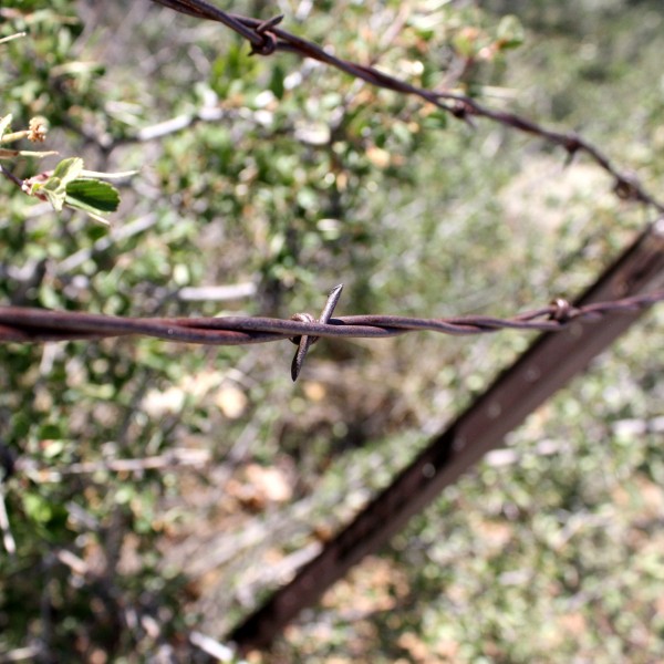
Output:
<path fill-rule="evenodd" d="M 661 188 L 658 0 L 218 4 L 580 131 Z M 500 25 L 519 48 L 492 48 Z M 0 115 L 46 117 L 60 156 L 4 166 L 138 175 L 110 228 L 0 180 L 2 304 L 289 317 L 344 282 L 340 314 L 504 315 L 573 297 L 652 220 L 540 141 L 250 58 L 147 0 L 3 1 L 0 38 L 19 31 Z M 663 323 L 647 313 L 250 660 L 664 658 Z M 201 634 L 222 642 L 531 339 L 321 342 L 294 386 L 290 344 L 0 347 L 0 662 L 208 661 Z"/>

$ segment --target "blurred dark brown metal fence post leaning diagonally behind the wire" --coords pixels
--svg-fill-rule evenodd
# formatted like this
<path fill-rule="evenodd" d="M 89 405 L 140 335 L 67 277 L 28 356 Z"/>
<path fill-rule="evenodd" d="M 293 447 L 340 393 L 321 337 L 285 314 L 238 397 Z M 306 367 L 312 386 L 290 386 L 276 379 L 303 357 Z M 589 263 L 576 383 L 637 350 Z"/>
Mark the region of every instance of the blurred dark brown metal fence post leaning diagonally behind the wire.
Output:
<path fill-rule="evenodd" d="M 664 286 L 664 218 L 650 226 L 574 302 L 652 292 Z M 229 635 L 242 652 L 266 649 L 354 564 L 376 552 L 440 491 L 499 447 L 510 430 L 582 372 L 625 332 L 641 311 L 578 320 L 540 335 L 447 430 L 435 437 L 317 558 Z"/>

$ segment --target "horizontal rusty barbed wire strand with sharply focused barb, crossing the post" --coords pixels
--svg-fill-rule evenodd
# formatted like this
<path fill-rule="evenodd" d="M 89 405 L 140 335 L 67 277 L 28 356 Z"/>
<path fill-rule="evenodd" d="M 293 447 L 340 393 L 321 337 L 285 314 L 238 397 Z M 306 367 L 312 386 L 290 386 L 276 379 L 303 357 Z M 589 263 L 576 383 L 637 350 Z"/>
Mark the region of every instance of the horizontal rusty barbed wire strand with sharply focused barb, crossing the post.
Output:
<path fill-rule="evenodd" d="M 0 307 L 0 343 L 94 341 L 117 336 L 151 336 L 207 345 L 246 345 L 290 340 L 298 345 L 291 366 L 297 380 L 309 347 L 321 338 L 385 339 L 407 332 L 429 331 L 465 336 L 499 330 L 556 332 L 572 322 L 596 321 L 606 315 L 633 313 L 664 301 L 664 291 L 574 307 L 558 299 L 546 307 L 511 318 L 461 315 L 412 318 L 360 314 L 332 318 L 343 284 L 332 289 L 321 317 L 297 313 L 291 319 L 261 317 L 122 318 L 73 311 Z"/>

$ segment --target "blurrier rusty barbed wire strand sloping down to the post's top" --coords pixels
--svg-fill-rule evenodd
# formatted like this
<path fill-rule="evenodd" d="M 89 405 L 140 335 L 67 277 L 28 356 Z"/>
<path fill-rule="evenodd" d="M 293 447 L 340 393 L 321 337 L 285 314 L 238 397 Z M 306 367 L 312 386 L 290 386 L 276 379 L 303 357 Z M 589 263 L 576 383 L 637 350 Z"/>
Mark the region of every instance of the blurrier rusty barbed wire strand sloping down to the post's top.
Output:
<path fill-rule="evenodd" d="M 548 143 L 564 148 L 570 158 L 584 153 L 611 175 L 614 183 L 613 190 L 619 198 L 639 201 L 652 206 L 658 212 L 664 212 L 664 204 L 646 191 L 633 174 L 621 172 L 602 151 L 575 132 L 549 129 L 516 113 L 485 106 L 470 96 L 457 92 L 418 87 L 402 79 L 381 72 L 374 66 L 336 58 L 317 43 L 279 28 L 278 25 L 283 15 L 274 17 L 268 21 L 260 21 L 259 19 L 222 11 L 205 0 L 153 0 L 153 2 L 198 19 L 224 23 L 251 44 L 251 53 L 259 55 L 272 55 L 277 51 L 295 53 L 302 58 L 310 58 L 333 66 L 376 87 L 417 96 L 458 120 L 471 123 L 473 117 L 485 117 L 519 132 L 539 136 Z"/>

